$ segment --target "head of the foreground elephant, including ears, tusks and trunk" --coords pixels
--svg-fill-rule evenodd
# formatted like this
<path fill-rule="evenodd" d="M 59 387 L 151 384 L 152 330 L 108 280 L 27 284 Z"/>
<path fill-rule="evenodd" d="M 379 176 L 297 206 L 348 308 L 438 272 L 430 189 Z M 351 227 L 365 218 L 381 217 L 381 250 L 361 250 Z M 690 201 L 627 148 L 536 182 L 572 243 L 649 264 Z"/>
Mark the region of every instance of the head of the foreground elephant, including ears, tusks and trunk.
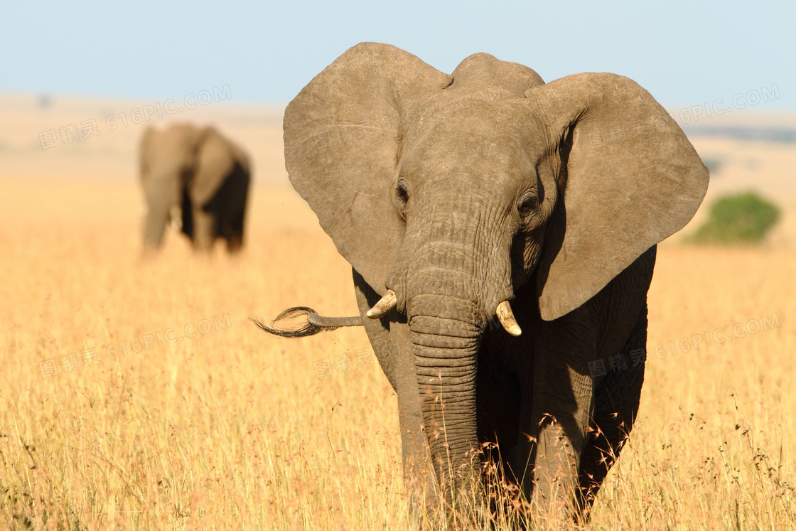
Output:
<path fill-rule="evenodd" d="M 431 459 L 461 481 L 477 447 L 482 334 L 536 286 L 541 318 L 578 308 L 682 228 L 708 171 L 632 80 L 544 84 L 487 54 L 452 76 L 390 45 L 349 49 L 287 107 L 295 189 L 338 251 L 407 318 Z M 386 317 L 385 317 L 386 316 Z"/>

